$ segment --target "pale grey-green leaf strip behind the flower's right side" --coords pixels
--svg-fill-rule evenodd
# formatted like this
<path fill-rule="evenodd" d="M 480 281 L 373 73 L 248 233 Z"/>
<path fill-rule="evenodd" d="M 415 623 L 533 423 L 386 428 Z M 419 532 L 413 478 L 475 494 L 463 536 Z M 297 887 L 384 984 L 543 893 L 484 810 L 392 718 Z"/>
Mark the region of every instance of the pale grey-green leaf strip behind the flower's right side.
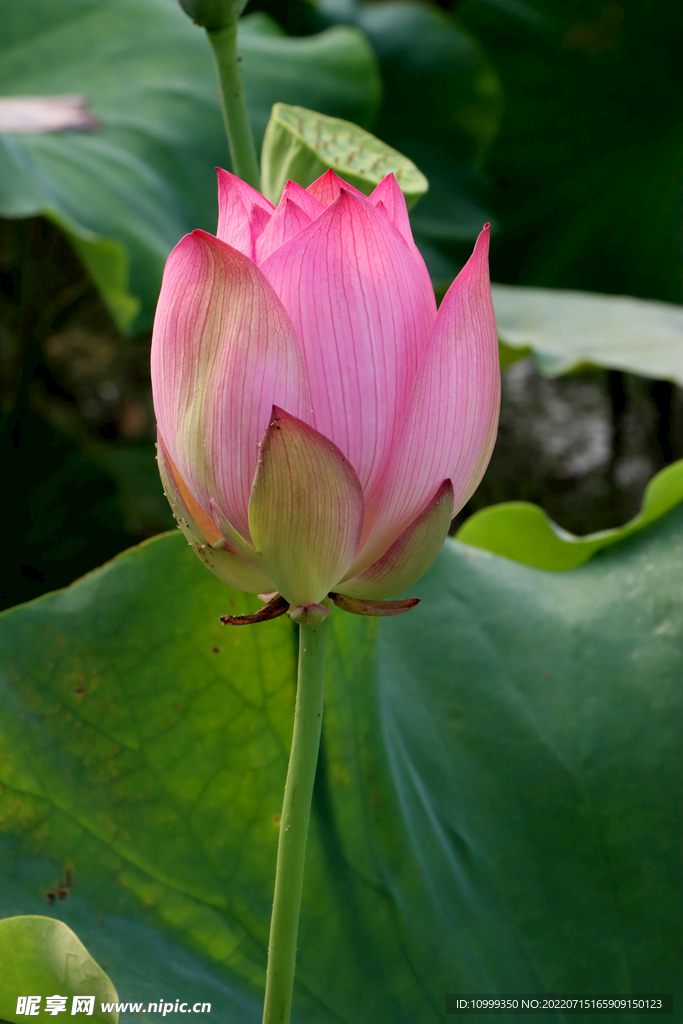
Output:
<path fill-rule="evenodd" d="M 492 292 L 505 365 L 531 352 L 548 377 L 595 366 L 683 384 L 683 306 L 514 285 Z"/>

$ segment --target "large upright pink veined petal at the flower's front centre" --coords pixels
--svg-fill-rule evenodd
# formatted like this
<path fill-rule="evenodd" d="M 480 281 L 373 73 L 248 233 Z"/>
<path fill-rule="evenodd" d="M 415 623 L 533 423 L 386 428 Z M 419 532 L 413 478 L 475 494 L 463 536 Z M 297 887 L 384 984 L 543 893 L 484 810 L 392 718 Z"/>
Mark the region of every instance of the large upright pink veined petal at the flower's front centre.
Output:
<path fill-rule="evenodd" d="M 261 269 L 303 349 L 305 419 L 350 460 L 372 517 L 436 315 L 426 268 L 416 271 L 386 216 L 344 187 Z"/>

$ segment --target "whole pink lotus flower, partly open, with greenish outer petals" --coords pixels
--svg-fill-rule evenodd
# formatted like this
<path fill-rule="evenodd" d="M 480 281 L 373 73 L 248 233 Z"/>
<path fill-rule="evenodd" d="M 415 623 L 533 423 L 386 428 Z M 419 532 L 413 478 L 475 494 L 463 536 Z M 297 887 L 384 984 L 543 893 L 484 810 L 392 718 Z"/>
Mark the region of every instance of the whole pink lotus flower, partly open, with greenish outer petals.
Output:
<path fill-rule="evenodd" d="M 247 622 L 387 602 L 477 486 L 500 404 L 488 227 L 436 309 L 393 175 L 273 207 L 218 171 L 217 236 L 169 256 L 152 345 L 159 464 L 189 544 L 266 595 Z M 395 606 L 395 607 L 389 607 Z"/>

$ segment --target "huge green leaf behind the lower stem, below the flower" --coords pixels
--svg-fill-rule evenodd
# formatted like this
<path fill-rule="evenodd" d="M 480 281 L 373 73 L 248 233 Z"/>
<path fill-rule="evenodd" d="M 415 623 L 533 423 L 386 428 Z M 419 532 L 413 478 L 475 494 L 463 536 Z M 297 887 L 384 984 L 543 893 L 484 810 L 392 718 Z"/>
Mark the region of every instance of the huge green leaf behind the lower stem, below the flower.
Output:
<path fill-rule="evenodd" d="M 566 573 L 450 541 L 409 615 L 332 612 L 295 1021 L 678 990 L 682 527 Z M 122 999 L 241 1024 L 294 702 L 292 625 L 217 621 L 254 600 L 176 534 L 0 618 L 4 911 L 58 913 Z"/>

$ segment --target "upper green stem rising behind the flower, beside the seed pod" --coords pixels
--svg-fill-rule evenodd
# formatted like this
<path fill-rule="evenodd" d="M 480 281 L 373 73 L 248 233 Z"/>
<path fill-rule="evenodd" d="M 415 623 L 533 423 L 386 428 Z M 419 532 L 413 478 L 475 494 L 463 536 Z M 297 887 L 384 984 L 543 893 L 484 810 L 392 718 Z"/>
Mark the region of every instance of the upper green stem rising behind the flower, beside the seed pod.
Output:
<path fill-rule="evenodd" d="M 220 82 L 223 123 L 230 147 L 232 171 L 243 181 L 260 190 L 261 176 L 240 75 L 238 19 L 230 20 L 224 29 L 207 29 L 207 36 Z"/>

